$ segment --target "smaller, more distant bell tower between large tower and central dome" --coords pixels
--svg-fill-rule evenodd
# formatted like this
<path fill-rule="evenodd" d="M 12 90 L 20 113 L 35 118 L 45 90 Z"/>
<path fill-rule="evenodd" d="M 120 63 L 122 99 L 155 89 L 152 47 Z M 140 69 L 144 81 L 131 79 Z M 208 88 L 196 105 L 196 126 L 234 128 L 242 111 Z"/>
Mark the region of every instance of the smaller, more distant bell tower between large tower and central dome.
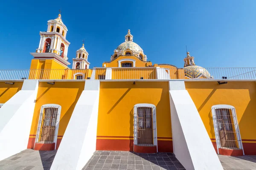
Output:
<path fill-rule="evenodd" d="M 88 52 L 84 48 L 84 44 L 76 51 L 76 58 L 73 58 L 73 69 L 87 69 L 90 62 L 88 62 Z"/>

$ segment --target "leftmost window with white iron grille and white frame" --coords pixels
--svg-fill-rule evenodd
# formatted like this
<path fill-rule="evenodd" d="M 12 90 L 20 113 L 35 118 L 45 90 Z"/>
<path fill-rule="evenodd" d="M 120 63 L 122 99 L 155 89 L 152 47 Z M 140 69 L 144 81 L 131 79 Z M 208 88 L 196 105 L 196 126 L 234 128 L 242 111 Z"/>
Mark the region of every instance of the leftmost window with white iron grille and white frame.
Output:
<path fill-rule="evenodd" d="M 60 111 L 59 105 L 49 104 L 41 107 L 36 142 L 56 144 Z"/>

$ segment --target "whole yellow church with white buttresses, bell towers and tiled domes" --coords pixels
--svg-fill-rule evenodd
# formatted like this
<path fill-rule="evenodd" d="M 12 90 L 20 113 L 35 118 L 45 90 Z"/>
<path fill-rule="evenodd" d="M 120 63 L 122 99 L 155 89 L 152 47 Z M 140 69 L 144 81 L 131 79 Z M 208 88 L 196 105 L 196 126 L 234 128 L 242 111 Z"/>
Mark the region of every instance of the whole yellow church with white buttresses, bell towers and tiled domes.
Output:
<path fill-rule="evenodd" d="M 129 29 L 92 68 L 84 44 L 68 61 L 67 34 L 58 14 L 29 69 L 0 70 L 0 160 L 58 150 L 51 170 L 81 170 L 97 150 L 167 152 L 223 170 L 218 154 L 256 155 L 256 68 L 203 68 L 189 52 L 183 68 L 152 63 Z"/>

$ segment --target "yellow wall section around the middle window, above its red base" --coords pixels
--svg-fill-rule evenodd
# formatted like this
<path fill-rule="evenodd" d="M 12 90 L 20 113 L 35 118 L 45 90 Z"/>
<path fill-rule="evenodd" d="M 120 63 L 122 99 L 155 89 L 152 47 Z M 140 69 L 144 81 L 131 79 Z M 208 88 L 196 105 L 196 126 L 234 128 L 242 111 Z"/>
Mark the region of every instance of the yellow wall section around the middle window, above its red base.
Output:
<path fill-rule="evenodd" d="M 156 106 L 157 136 L 172 137 L 168 82 L 101 82 L 97 136 L 133 136 L 133 109 Z"/>

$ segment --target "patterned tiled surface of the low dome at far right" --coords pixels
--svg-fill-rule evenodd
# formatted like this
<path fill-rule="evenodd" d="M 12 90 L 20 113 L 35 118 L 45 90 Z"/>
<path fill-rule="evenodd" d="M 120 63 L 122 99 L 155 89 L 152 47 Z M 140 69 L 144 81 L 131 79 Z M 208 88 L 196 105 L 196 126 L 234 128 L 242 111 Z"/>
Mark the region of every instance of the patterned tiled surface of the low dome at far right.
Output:
<path fill-rule="evenodd" d="M 184 67 L 183 69 L 185 71 L 185 76 L 188 77 L 189 79 L 199 78 L 199 77 L 210 78 L 209 72 L 201 66 L 189 65 Z"/>

